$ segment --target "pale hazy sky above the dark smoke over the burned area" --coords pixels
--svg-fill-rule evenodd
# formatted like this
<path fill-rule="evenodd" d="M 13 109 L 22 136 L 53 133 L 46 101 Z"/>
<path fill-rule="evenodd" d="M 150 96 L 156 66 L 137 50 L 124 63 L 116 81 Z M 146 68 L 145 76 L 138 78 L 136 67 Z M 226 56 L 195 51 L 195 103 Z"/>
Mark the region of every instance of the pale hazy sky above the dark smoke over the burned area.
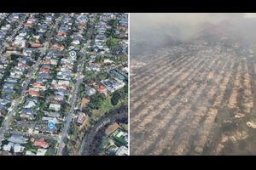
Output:
<path fill-rule="evenodd" d="M 217 24 L 229 20 L 239 23 L 241 20 L 256 19 L 252 13 L 131 13 L 131 38 L 132 34 L 157 30 L 168 32 L 166 28 L 175 26 L 182 37 L 189 37 L 201 29 L 201 24 Z M 161 30 L 161 28 L 164 28 Z M 154 31 L 153 31 L 154 32 Z M 172 32 L 168 32 L 172 33 Z"/>

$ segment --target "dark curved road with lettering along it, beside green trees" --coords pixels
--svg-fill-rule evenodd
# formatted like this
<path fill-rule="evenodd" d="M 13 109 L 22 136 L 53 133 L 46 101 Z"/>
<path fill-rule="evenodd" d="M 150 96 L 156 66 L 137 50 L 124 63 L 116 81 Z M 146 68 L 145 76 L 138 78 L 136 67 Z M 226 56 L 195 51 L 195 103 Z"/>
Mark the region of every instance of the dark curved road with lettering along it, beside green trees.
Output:
<path fill-rule="evenodd" d="M 128 111 L 125 109 L 118 109 L 102 117 L 102 119 L 99 122 L 96 122 L 96 124 L 93 127 L 91 127 L 88 132 L 85 133 L 81 148 L 79 150 L 79 155 L 90 155 L 90 144 L 94 142 L 94 138 L 96 136 L 96 133 L 98 132 L 99 127 L 102 128 L 107 124 L 113 124 L 113 122 L 116 122 L 118 119 L 123 118 L 127 118 L 128 120 Z"/>

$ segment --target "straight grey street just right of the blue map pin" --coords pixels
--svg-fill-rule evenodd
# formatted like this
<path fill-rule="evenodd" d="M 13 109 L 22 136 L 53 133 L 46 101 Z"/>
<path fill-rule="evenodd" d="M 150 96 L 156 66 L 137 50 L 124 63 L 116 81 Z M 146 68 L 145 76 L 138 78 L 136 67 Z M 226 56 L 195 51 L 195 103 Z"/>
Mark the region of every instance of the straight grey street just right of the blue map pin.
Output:
<path fill-rule="evenodd" d="M 80 60 L 82 60 L 82 59 L 80 59 Z M 74 107 L 75 107 L 77 99 L 78 99 L 79 86 L 83 82 L 83 77 L 81 77 L 82 73 L 83 73 L 83 69 L 84 69 L 84 60 L 82 62 L 79 61 L 78 75 L 76 77 L 76 84 L 74 86 L 73 95 L 72 95 L 71 102 L 70 102 L 71 108 L 68 111 L 67 121 L 65 122 L 64 127 L 62 129 L 61 141 L 60 141 L 60 144 L 59 144 L 59 148 L 57 150 L 57 156 L 62 155 L 62 150 L 65 147 L 64 139 L 67 138 L 68 129 L 70 127 L 70 123 L 72 122 L 72 118 L 73 118 Z"/>

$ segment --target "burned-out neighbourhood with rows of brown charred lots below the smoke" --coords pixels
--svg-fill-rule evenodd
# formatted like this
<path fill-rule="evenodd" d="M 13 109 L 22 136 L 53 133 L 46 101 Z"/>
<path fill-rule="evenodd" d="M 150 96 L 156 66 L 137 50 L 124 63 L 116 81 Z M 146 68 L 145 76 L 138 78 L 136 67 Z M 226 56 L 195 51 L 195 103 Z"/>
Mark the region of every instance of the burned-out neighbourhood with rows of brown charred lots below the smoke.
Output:
<path fill-rule="evenodd" d="M 131 155 L 255 155 L 256 54 L 188 43 L 131 55 Z"/>

